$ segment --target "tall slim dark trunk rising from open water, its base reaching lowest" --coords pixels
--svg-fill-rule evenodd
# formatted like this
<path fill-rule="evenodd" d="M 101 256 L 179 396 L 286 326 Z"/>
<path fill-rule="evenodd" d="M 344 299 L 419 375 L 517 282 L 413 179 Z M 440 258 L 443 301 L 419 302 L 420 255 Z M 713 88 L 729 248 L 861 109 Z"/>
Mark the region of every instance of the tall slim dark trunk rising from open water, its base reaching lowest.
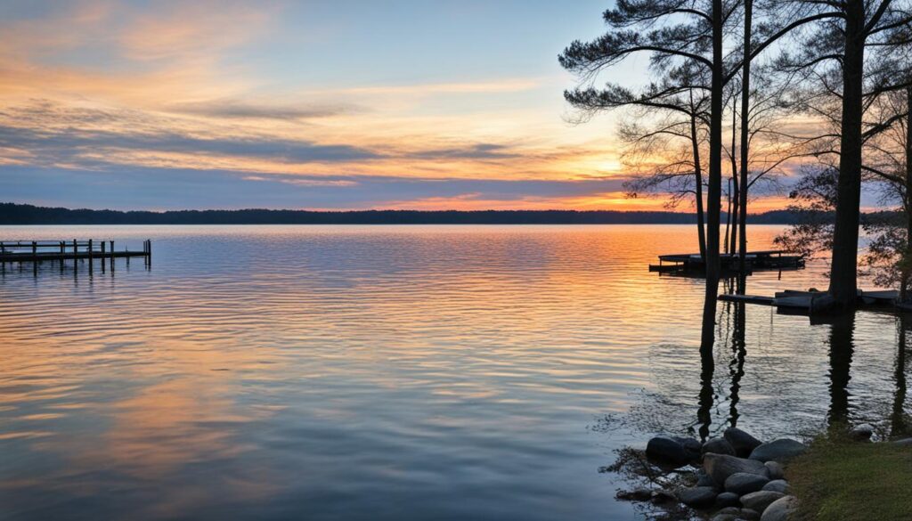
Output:
<path fill-rule="evenodd" d="M 719 297 L 719 212 L 722 184 L 722 0 L 712 0 L 712 91 L 710 96 L 710 178 L 707 186 L 706 295 L 700 331 L 702 358 L 712 363 Z"/>

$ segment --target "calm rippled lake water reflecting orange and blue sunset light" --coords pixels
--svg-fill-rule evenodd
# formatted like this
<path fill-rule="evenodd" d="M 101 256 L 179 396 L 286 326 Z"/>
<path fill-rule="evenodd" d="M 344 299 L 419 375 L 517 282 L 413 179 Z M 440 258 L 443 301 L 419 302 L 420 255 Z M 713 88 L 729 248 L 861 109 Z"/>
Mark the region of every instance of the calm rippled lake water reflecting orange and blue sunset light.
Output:
<path fill-rule="evenodd" d="M 889 432 L 910 412 L 889 314 L 812 326 L 753 306 L 740 328 L 720 304 L 702 371 L 702 281 L 647 270 L 692 250 L 691 226 L 0 237 L 153 246 L 150 269 L 0 275 L 3 519 L 637 519 L 599 468 L 654 432 Z M 748 292 L 825 287 L 824 269 Z"/>

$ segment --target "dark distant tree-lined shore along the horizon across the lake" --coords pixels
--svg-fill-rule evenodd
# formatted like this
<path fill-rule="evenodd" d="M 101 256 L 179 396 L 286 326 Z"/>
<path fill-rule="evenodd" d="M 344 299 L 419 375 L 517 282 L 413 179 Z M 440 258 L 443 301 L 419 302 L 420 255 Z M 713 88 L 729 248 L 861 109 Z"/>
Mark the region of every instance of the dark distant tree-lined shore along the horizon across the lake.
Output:
<path fill-rule="evenodd" d="M 722 214 L 724 222 L 725 214 Z M 793 224 L 777 210 L 748 215 L 749 224 Z M 50 208 L 0 203 L 0 224 L 696 224 L 696 214 L 611 210 L 172 210 L 167 212 Z"/>

